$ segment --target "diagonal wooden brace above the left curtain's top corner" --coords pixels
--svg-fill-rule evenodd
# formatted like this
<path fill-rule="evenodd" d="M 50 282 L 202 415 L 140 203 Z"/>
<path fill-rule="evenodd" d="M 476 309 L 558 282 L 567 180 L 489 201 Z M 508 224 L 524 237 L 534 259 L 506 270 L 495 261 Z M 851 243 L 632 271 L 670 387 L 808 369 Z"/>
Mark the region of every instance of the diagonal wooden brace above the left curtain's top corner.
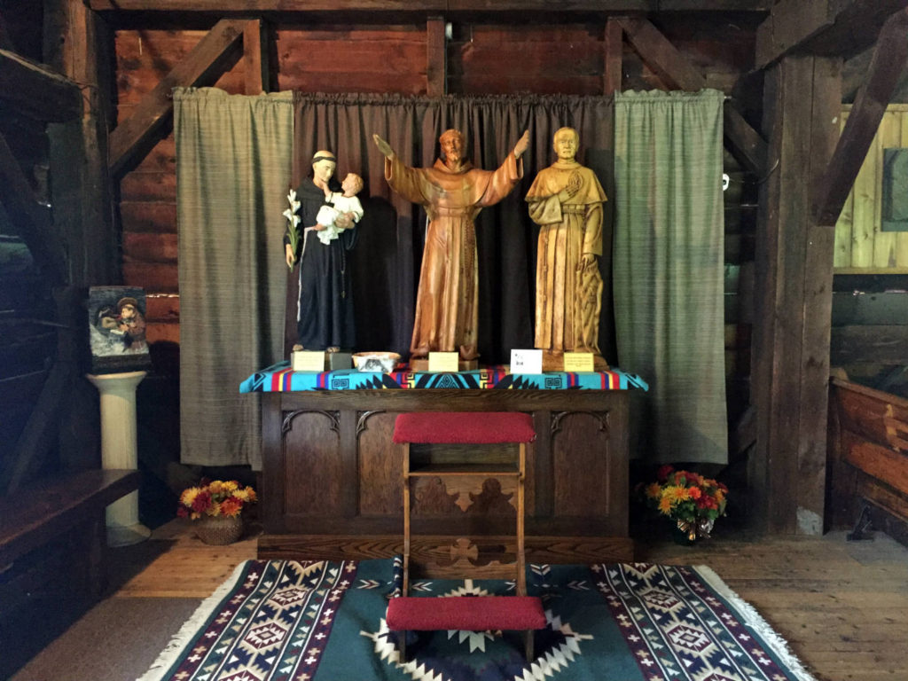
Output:
<path fill-rule="evenodd" d="M 123 174 L 156 141 L 173 113 L 174 87 L 213 84 L 240 58 L 245 21 L 222 19 L 199 41 L 192 52 L 165 75 L 136 106 L 132 116 L 120 123 L 110 139 L 110 169 Z"/>

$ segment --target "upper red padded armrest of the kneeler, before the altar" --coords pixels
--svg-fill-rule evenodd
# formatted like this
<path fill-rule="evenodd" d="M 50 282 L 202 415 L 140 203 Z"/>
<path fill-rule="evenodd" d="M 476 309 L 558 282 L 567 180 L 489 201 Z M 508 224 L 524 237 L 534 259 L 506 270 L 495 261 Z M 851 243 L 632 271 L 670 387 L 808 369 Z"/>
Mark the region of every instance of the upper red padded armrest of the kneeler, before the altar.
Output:
<path fill-rule="evenodd" d="M 394 441 L 487 445 L 532 442 L 533 419 L 519 411 L 415 411 L 394 422 Z"/>

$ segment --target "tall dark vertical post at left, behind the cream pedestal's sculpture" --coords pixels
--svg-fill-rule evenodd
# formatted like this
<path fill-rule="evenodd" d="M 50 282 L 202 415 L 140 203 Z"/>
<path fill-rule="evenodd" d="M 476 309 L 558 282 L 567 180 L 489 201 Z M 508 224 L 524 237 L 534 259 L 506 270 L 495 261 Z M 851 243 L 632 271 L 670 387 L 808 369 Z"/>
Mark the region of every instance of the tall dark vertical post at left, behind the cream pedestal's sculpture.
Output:
<path fill-rule="evenodd" d="M 73 121 L 48 125 L 54 231 L 67 245 L 68 277 L 73 288 L 58 301 L 61 321 L 70 325 L 72 348 L 60 351 L 57 364 L 66 373 L 58 400 L 60 460 L 65 468 L 97 465 L 97 402 L 82 376 L 78 332 L 87 333 L 81 313 L 84 288 L 120 280 L 118 227 L 107 172 L 107 132 L 114 110 L 107 93 L 114 75 L 104 58 L 113 36 L 83 3 L 48 0 L 44 12 L 44 60 L 82 85 L 83 110 Z M 82 339 L 84 341 L 84 339 Z"/>

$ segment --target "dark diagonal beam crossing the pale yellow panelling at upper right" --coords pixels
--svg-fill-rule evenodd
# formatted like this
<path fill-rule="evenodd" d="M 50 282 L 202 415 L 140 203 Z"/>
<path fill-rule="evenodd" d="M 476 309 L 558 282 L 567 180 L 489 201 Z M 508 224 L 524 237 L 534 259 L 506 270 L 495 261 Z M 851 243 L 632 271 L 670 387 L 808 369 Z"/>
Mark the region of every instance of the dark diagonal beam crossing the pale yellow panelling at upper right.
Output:
<path fill-rule="evenodd" d="M 820 224 L 834 225 L 839 219 L 905 64 L 908 64 L 908 9 L 889 17 L 873 49 L 864 84 L 858 90 L 851 115 L 819 185 L 814 218 Z"/>

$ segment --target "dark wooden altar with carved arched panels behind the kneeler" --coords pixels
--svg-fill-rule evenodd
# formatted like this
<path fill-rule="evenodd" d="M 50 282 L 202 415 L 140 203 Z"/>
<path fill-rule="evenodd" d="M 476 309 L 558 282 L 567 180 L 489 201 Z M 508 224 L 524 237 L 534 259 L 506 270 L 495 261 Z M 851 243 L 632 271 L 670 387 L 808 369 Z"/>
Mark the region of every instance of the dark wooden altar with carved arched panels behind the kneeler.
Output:
<path fill-rule="evenodd" d="M 628 393 L 437 388 L 266 391 L 262 394 L 264 534 L 259 539 L 259 558 L 379 558 L 401 553 L 401 462 L 399 446 L 391 441 L 394 419 L 401 412 L 446 410 L 532 415 L 537 439 L 528 447 L 528 561 L 631 560 Z M 469 494 L 472 498 L 473 492 Z M 487 501 L 485 512 L 471 508 L 466 513 L 452 490 L 423 494 L 413 520 L 422 538 L 413 547 L 415 559 L 444 565 L 465 555 L 481 563 L 485 553 L 507 550 L 503 537 L 513 533 L 510 507 L 496 504 L 495 499 Z M 475 545 L 458 541 L 467 533 Z"/>

